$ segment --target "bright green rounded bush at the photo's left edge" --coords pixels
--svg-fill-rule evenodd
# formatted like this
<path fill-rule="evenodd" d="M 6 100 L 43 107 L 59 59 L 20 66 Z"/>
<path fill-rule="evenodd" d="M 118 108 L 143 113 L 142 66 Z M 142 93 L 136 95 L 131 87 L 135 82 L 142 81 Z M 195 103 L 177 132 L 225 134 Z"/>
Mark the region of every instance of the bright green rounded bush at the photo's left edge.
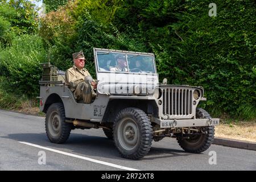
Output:
<path fill-rule="evenodd" d="M 7 79 L 6 89 L 16 94 L 38 96 L 42 73 L 39 63 L 46 59 L 42 39 L 38 35 L 21 35 L 11 47 L 0 50 L 0 65 Z"/>

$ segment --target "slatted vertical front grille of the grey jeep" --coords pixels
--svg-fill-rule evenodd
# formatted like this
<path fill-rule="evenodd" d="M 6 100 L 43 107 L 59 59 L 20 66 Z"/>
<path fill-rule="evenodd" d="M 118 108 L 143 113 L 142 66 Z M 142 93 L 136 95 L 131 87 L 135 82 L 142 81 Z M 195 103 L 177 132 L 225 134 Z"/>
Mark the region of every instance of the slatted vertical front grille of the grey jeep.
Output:
<path fill-rule="evenodd" d="M 191 89 L 162 89 L 163 114 L 189 115 L 192 114 Z"/>

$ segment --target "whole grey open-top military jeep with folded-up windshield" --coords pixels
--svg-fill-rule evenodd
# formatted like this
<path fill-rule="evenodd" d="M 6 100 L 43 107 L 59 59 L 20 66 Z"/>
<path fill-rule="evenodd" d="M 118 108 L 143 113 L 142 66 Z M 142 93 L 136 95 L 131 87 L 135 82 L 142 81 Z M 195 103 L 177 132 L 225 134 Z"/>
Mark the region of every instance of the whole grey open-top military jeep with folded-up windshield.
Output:
<path fill-rule="evenodd" d="M 152 140 L 176 138 L 187 152 L 207 150 L 214 139 L 211 118 L 198 108 L 205 101 L 201 86 L 167 85 L 159 82 L 152 53 L 94 48 L 97 96 L 91 104 L 75 100 L 65 85 L 64 74 L 42 64 L 40 110 L 46 113 L 46 134 L 53 143 L 64 143 L 73 129 L 102 129 L 114 140 L 123 158 L 140 159 L 150 151 Z M 126 71 L 110 71 L 115 57 L 126 59 Z"/>

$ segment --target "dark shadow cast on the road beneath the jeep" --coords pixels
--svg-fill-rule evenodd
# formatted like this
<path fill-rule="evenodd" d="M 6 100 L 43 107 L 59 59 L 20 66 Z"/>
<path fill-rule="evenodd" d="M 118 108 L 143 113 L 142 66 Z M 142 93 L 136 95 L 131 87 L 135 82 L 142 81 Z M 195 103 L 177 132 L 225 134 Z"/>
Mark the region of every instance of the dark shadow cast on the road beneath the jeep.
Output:
<path fill-rule="evenodd" d="M 64 144 L 55 144 L 49 142 L 46 133 L 20 133 L 9 134 L 1 137 L 16 140 L 17 142 L 28 142 L 38 144 L 43 147 L 51 147 L 56 150 L 75 153 L 77 155 L 98 156 L 110 159 L 123 159 L 118 154 L 117 148 L 114 146 L 113 140 L 106 137 L 89 136 L 86 134 L 72 133 Z M 150 152 L 142 160 L 152 160 L 159 158 L 170 158 L 177 156 L 192 155 L 182 150 L 175 150 L 170 148 L 152 147 Z"/>

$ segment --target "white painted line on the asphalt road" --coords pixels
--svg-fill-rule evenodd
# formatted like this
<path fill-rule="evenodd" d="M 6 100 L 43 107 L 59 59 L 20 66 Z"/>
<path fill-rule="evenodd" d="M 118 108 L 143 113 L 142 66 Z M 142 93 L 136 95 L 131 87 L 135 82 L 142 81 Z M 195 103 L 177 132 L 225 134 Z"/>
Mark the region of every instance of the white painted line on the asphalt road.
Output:
<path fill-rule="evenodd" d="M 32 146 L 32 147 L 42 148 L 42 149 L 44 149 L 44 150 L 56 152 L 56 153 L 63 154 L 63 155 L 72 156 L 72 157 L 74 157 L 74 158 L 79 158 L 79 159 L 83 159 L 83 160 L 88 160 L 88 161 L 93 162 L 93 163 L 99 163 L 99 164 L 103 164 L 103 165 L 106 165 L 106 166 L 111 166 L 111 167 L 115 167 L 115 168 L 119 168 L 119 169 L 125 169 L 125 170 L 127 170 L 127 171 L 141 171 L 141 170 L 139 170 L 139 169 L 134 169 L 134 168 L 124 167 L 124 166 L 119 166 L 119 165 L 117 165 L 117 164 L 107 163 L 107 162 L 103 162 L 103 161 L 101 161 L 101 160 L 86 158 L 86 157 L 84 157 L 84 156 L 75 155 L 75 154 L 70 154 L 70 153 L 68 153 L 68 152 L 63 152 L 63 151 L 60 151 L 60 150 L 55 150 L 55 149 L 52 149 L 52 148 L 39 146 L 39 145 L 37 145 L 37 144 L 32 144 L 32 143 L 28 143 L 28 142 L 19 142 L 19 143 L 27 144 L 28 146 Z"/>

